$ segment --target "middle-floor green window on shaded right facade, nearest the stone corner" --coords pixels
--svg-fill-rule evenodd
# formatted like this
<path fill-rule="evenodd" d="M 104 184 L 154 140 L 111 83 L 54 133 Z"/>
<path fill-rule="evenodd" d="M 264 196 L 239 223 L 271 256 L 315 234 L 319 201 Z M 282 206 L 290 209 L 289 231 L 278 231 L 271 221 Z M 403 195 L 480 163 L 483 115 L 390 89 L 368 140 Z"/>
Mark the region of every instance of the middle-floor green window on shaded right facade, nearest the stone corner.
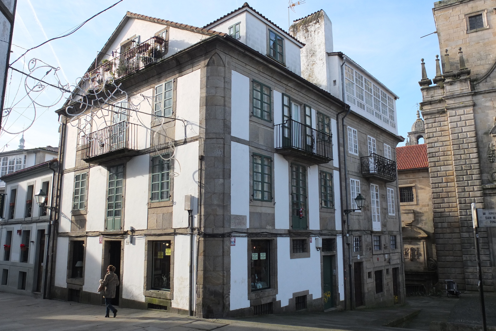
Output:
<path fill-rule="evenodd" d="M 253 153 L 253 200 L 272 201 L 272 158 Z"/>

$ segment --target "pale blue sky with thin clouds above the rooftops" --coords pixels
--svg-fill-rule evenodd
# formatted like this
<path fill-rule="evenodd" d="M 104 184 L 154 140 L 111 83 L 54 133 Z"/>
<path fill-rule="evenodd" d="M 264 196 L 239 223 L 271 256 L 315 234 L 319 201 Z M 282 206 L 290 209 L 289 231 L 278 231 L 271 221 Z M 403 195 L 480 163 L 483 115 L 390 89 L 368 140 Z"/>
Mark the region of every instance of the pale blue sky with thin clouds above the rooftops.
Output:
<path fill-rule="evenodd" d="M 117 0 L 18 0 L 14 27 L 11 61 L 24 50 L 45 40 L 61 35 Z M 168 19 L 195 26 L 203 26 L 218 17 L 240 7 L 245 1 L 137 1 L 124 0 L 117 6 L 89 21 L 74 34 L 53 41 L 29 52 L 25 61 L 37 58 L 54 67 L 62 81 L 74 83 L 84 74 L 96 52 L 99 51 L 117 27 L 127 10 L 148 16 Z M 253 8 L 278 24 L 288 28 L 288 2 L 286 0 L 248 2 Z M 416 119 L 417 103 L 421 101 L 420 59 L 426 59 L 429 78 L 434 77 L 434 59 L 439 54 L 434 32 L 432 13 L 434 1 L 397 0 L 307 0 L 290 12 L 291 21 L 319 9 L 324 9 L 333 24 L 334 51 L 346 53 L 380 82 L 395 92 L 398 112 L 398 133 L 407 136 Z M 22 48 L 20 48 L 22 47 Z M 22 61 L 15 65 L 23 68 Z M 13 74 L 8 79 L 6 106 L 21 99 L 25 94 L 23 81 Z M 39 100 L 48 104 L 57 100 L 55 91 L 45 93 Z M 29 126 L 34 118 L 32 107 L 24 110 L 26 98 L 11 112 L 5 128 L 19 132 Z M 59 123 L 55 109 L 37 108 L 37 118 L 24 133 L 26 148 L 57 146 Z M 3 127 L 2 125 L 2 127 Z M 21 135 L 2 133 L 0 151 L 16 149 Z M 7 146 L 5 146 L 7 145 Z M 404 143 L 399 146 L 404 145 Z"/>

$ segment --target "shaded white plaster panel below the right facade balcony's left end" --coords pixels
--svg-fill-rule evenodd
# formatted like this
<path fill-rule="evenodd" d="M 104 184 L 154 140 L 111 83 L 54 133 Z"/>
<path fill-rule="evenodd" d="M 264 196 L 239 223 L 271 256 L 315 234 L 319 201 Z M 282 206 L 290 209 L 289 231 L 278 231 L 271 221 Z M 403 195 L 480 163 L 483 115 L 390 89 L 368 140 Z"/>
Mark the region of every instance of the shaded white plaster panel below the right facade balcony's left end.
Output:
<path fill-rule="evenodd" d="M 289 229 L 289 165 L 280 154 L 274 154 L 274 187 L 275 228 Z"/>

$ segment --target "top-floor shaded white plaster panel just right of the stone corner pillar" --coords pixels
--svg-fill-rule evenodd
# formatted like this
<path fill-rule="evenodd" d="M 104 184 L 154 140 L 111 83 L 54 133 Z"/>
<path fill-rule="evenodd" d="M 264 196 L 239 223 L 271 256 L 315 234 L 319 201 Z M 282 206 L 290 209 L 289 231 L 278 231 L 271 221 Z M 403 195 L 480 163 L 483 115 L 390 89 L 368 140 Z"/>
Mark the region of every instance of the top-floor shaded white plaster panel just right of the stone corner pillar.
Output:
<path fill-rule="evenodd" d="M 231 72 L 231 135 L 249 140 L 249 78 Z"/>

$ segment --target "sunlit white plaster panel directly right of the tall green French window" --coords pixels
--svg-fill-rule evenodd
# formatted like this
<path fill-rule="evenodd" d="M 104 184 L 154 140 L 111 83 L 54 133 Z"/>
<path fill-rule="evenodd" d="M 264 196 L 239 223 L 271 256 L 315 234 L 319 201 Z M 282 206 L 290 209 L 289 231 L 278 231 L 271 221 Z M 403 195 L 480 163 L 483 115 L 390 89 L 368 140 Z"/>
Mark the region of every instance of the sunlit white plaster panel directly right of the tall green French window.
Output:
<path fill-rule="evenodd" d="M 125 168 L 124 230 L 148 226 L 148 169 L 150 156 L 132 158 Z"/>

